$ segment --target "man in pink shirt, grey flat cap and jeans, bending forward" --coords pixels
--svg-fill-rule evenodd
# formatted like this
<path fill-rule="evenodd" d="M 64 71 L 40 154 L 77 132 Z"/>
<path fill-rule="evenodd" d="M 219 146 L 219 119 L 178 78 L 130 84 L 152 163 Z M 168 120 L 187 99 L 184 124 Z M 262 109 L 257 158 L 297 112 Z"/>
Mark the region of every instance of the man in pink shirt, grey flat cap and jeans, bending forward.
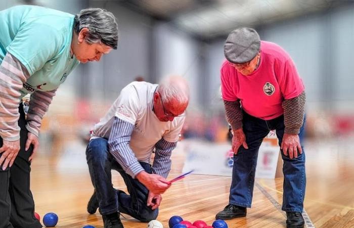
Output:
<path fill-rule="evenodd" d="M 220 70 L 226 117 L 232 127 L 234 165 L 229 204 L 216 219 L 246 216 L 251 207 L 259 146 L 276 130 L 284 161 L 287 227 L 303 227 L 305 92 L 295 64 L 279 45 L 260 41 L 252 28 L 232 31 Z"/>

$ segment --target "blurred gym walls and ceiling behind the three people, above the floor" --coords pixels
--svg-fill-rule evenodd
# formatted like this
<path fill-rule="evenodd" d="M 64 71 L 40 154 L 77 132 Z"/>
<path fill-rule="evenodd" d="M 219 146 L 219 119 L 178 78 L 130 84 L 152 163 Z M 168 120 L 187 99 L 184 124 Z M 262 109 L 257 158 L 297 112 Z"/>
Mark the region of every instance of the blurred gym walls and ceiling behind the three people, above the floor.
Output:
<path fill-rule="evenodd" d="M 118 50 L 69 75 L 50 106 L 43 138 L 84 135 L 129 82 L 180 74 L 192 91 L 184 135 L 226 140 L 219 68 L 226 37 L 240 26 L 257 29 L 261 40 L 279 44 L 295 61 L 306 88 L 307 136 L 353 133 L 352 1 L 2 0 L 0 10 L 22 4 L 72 14 L 100 7 L 118 19 Z"/>

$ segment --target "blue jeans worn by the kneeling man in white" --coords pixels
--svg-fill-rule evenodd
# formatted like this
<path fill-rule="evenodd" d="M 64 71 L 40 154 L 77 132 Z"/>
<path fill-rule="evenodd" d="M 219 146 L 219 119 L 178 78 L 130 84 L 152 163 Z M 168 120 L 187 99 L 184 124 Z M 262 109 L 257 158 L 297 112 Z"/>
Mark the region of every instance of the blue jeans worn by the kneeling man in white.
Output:
<path fill-rule="evenodd" d="M 147 206 L 149 190 L 138 179 L 133 179 L 122 169 L 109 153 L 107 139 L 91 140 L 86 148 L 86 160 L 92 183 L 96 189 L 101 214 L 106 215 L 119 211 L 143 222 L 156 219 L 158 209 L 152 210 Z M 151 173 L 149 163 L 140 162 L 140 164 L 146 172 Z M 112 169 L 118 171 L 123 177 L 130 195 L 113 188 Z"/>

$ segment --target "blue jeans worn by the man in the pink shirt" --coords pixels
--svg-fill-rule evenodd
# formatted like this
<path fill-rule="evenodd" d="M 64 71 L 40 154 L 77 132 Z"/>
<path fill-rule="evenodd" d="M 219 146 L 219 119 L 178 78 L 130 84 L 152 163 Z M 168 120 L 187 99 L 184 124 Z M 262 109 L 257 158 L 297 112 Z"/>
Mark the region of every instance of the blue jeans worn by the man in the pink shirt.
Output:
<path fill-rule="evenodd" d="M 304 118 L 299 133 L 301 147 L 303 145 L 305 120 L 306 118 Z M 274 129 L 276 130 L 279 145 L 281 145 L 284 128 L 284 116 L 264 121 L 243 112 L 243 131 L 246 135 L 248 149 L 241 145 L 237 155 L 234 155 L 230 204 L 251 207 L 259 146 L 270 130 Z M 284 155 L 283 150 L 281 150 L 281 155 L 284 162 L 282 210 L 302 212 L 306 186 L 304 149 L 302 147 L 302 154 L 298 154 L 297 158 L 290 159 Z"/>

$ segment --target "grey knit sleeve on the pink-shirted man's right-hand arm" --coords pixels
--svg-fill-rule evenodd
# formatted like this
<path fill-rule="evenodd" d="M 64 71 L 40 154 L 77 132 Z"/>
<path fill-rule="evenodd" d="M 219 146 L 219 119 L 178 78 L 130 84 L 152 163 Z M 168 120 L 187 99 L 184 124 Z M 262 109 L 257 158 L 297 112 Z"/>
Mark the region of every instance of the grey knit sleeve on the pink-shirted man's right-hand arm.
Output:
<path fill-rule="evenodd" d="M 303 124 L 303 116 L 305 115 L 306 95 L 303 91 L 299 96 L 284 100 L 284 133 L 298 134 Z"/>

